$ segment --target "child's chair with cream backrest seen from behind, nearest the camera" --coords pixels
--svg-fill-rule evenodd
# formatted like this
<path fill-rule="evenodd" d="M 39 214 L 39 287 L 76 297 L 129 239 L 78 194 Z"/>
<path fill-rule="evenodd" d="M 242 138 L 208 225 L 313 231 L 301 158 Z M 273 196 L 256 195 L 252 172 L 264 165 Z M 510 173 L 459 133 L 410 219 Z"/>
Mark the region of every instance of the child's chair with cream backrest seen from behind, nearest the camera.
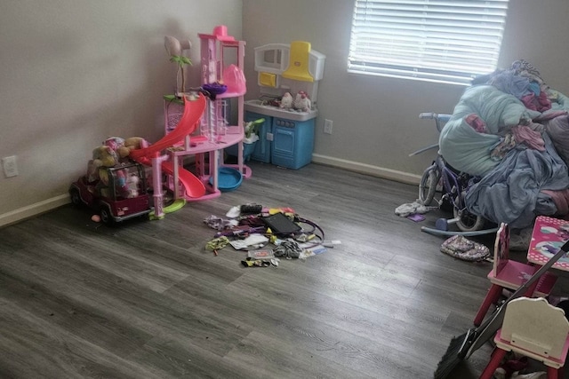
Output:
<path fill-rule="evenodd" d="M 494 337 L 496 349 L 480 379 L 490 379 L 508 351 L 538 360 L 548 379 L 562 379 L 569 348 L 565 312 L 544 298 L 518 297 L 506 305 L 502 327 Z"/>

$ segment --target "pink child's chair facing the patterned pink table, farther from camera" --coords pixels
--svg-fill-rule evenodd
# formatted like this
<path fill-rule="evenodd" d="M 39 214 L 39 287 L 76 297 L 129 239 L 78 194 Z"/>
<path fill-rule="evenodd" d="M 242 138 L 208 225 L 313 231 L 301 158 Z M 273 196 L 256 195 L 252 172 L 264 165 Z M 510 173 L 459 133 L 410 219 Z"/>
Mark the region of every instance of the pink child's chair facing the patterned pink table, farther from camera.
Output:
<path fill-rule="evenodd" d="M 529 265 L 509 259 L 509 226 L 501 223 L 498 232 L 496 232 L 496 240 L 494 242 L 494 262 L 493 269 L 488 273 L 488 279 L 492 286 L 488 290 L 484 301 L 478 309 L 474 318 L 474 325 L 480 326 L 484 320 L 490 305 L 498 303 L 502 290 L 508 288 L 516 290 L 527 281 L 539 266 Z M 551 293 L 551 289 L 557 281 L 557 276 L 546 272 L 537 282 L 537 286 L 533 294 L 526 294 L 534 297 L 547 297 Z"/>

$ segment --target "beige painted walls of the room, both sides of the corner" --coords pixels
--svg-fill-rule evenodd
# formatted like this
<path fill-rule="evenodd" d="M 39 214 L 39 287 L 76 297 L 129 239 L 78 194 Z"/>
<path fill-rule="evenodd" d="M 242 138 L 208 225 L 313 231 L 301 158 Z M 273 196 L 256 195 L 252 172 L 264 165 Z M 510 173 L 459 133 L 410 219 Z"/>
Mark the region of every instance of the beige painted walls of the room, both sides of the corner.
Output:
<path fill-rule="evenodd" d="M 510 3 L 501 67 L 528 59 L 546 82 L 569 93 L 569 2 Z M 254 47 L 305 40 L 326 55 L 315 161 L 417 180 L 432 155 L 408 154 L 437 141 L 435 128 L 418 114 L 452 112 L 463 87 L 349 75 L 352 6 L 348 0 L 4 2 L 0 157 L 17 155 L 20 176 L 0 173 L 0 226 L 68 202 L 69 184 L 104 138 L 159 138 L 162 95 L 175 83 L 164 36 L 188 37 L 197 62 L 197 33 L 220 24 L 247 43 L 247 99 L 258 96 Z M 196 67 L 188 77 L 198 83 Z M 333 135 L 323 134 L 324 118 L 333 120 Z"/>

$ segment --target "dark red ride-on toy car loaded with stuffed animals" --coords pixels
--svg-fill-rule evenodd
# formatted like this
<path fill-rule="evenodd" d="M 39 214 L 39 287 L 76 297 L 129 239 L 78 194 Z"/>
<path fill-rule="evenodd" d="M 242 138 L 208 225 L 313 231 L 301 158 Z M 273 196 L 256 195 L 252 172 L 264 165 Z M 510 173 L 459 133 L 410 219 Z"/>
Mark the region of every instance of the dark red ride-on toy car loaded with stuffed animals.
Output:
<path fill-rule="evenodd" d="M 90 181 L 91 179 L 91 181 Z M 105 224 L 144 216 L 152 210 L 144 166 L 127 163 L 101 167 L 97 175 L 84 175 L 69 187 L 71 202 L 98 211 Z"/>

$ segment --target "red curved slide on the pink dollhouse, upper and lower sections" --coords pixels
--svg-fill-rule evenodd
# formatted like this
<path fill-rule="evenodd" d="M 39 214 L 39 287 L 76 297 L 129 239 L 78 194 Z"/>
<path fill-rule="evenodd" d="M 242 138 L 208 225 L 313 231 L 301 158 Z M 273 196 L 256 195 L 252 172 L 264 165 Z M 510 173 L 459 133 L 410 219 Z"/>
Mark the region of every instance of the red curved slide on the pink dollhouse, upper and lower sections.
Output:
<path fill-rule="evenodd" d="M 142 149 L 132 150 L 129 155 L 130 158 L 148 165 L 156 154 L 160 154 L 160 152 L 165 148 L 174 146 L 178 142 L 182 141 L 186 136 L 196 130 L 197 124 L 202 117 L 202 114 L 204 114 L 205 104 L 206 101 L 204 95 L 201 93 L 196 100 L 189 100 L 184 97 L 184 114 L 182 114 L 180 122 L 176 128 L 154 144 Z M 171 162 L 162 162 L 161 166 L 165 173 L 173 175 Z M 202 181 L 194 174 L 188 170 L 180 168 L 178 170 L 178 176 L 189 197 L 196 198 L 205 194 L 204 183 L 202 183 Z"/>

